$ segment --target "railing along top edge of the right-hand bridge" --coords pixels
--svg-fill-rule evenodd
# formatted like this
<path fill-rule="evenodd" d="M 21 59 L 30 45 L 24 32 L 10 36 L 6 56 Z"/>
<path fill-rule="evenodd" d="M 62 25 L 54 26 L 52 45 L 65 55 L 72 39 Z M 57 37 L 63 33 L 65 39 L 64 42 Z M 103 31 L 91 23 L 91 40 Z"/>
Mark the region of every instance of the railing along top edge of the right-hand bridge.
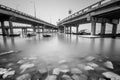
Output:
<path fill-rule="evenodd" d="M 60 23 L 66 21 L 66 20 L 72 19 L 74 17 L 77 17 L 79 15 L 85 14 L 85 13 L 91 11 L 92 9 L 98 8 L 98 7 L 100 7 L 100 6 L 108 3 L 110 1 L 114 1 L 114 0 L 101 0 L 101 1 L 98 1 L 98 2 L 96 2 L 96 3 L 94 3 L 94 4 L 90 5 L 90 6 L 88 6 L 86 8 L 84 8 L 84 9 L 82 9 L 82 10 L 80 10 L 80 11 L 78 11 L 78 12 L 76 12 L 76 13 L 74 13 L 74 14 L 66 17 L 66 18 L 64 18 L 63 20 L 60 21 Z"/>

